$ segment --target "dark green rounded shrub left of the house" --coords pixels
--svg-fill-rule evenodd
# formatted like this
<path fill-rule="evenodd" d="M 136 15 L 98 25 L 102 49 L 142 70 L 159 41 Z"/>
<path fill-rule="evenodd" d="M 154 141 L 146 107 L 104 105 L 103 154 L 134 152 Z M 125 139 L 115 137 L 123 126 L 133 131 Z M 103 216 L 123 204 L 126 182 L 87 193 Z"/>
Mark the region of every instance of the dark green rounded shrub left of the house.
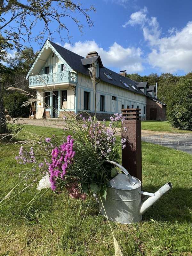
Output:
<path fill-rule="evenodd" d="M 9 94 L 5 99 L 5 108 L 8 109 L 9 115 L 12 117 L 28 116 L 30 106 L 21 107 L 26 100 L 27 96 L 19 92 Z"/>

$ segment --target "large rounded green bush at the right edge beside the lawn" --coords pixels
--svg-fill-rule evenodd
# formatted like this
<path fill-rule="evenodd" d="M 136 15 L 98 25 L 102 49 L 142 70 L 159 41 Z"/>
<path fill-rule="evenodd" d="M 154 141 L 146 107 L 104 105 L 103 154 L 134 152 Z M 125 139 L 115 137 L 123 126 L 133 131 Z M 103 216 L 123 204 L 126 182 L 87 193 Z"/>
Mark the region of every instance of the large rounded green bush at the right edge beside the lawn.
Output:
<path fill-rule="evenodd" d="M 192 130 L 192 79 L 180 78 L 172 88 L 167 118 L 175 128 Z"/>

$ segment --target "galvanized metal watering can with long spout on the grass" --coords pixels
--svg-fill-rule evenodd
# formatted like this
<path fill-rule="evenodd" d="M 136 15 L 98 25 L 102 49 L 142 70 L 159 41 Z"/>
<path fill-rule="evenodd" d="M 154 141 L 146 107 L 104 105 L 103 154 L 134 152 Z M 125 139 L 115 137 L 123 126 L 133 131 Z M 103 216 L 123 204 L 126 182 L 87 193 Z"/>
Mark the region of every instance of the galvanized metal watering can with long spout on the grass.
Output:
<path fill-rule="evenodd" d="M 106 200 L 96 194 L 93 195 L 99 203 L 100 213 L 105 217 L 107 214 L 109 220 L 124 224 L 140 221 L 142 214 L 172 188 L 171 182 L 168 182 L 155 193 L 143 192 L 140 180 L 131 176 L 120 164 L 113 161 L 107 162 L 114 164 L 124 172 L 108 181 Z M 149 196 L 149 198 L 141 203 L 141 195 Z"/>

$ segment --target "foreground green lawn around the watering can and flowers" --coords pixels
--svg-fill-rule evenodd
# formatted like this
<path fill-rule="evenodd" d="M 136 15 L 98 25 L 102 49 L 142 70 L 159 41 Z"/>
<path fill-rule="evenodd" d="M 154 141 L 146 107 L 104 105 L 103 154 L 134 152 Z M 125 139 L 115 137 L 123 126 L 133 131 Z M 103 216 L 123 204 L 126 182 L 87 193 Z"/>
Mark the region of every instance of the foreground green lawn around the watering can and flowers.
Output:
<path fill-rule="evenodd" d="M 38 134 L 53 133 L 55 130 L 25 127 Z M 61 134 L 59 131 L 57 133 Z M 31 135 L 23 133 L 22 136 L 28 138 Z M 18 148 L 1 145 L 0 152 L 0 195 L 3 198 L 17 183 L 18 173 L 24 171 L 25 167 L 16 164 L 14 159 Z M 172 182 L 173 189 L 143 215 L 141 222 L 131 225 L 111 222 L 124 256 L 192 255 L 191 165 L 192 156 L 187 153 L 142 143 L 143 190 L 155 192 L 167 181 Z M 22 209 L 36 191 L 36 188 L 26 189 L 0 207 L 0 256 L 114 255 L 108 222 L 102 216 L 97 218 L 98 205 L 94 200 L 82 223 L 89 199 L 83 202 L 77 219 L 81 202 L 72 212 L 76 200 L 70 199 L 68 204 L 66 195 L 49 191 L 35 202 L 23 219 L 27 209 Z M 65 233 L 60 239 L 64 229 Z"/>

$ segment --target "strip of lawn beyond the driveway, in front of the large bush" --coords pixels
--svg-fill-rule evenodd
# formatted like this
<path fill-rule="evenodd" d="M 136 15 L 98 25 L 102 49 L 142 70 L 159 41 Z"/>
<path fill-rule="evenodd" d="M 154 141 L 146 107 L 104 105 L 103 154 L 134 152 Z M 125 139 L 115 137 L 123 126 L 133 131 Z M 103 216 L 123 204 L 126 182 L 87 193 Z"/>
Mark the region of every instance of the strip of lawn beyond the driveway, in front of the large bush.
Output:
<path fill-rule="evenodd" d="M 106 121 L 106 125 L 109 125 L 109 121 Z M 119 127 L 121 127 L 121 124 L 119 124 Z M 192 131 L 173 128 L 167 121 L 141 121 L 141 129 L 155 132 L 192 133 Z"/>

